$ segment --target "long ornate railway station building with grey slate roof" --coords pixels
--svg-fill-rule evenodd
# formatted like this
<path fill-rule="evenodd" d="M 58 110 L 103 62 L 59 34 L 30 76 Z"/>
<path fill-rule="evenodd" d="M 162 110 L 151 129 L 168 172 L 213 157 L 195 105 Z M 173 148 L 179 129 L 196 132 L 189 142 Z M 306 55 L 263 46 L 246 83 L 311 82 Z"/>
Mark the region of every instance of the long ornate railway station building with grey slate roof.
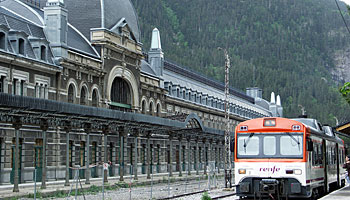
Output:
<path fill-rule="evenodd" d="M 129 0 L 0 1 L 0 185 L 224 168 L 224 84 L 143 49 Z M 224 66 L 223 66 L 224 67 Z M 230 131 L 281 117 L 230 88 Z M 88 167 L 87 167 L 88 166 Z M 36 169 L 36 170 L 35 170 Z"/>

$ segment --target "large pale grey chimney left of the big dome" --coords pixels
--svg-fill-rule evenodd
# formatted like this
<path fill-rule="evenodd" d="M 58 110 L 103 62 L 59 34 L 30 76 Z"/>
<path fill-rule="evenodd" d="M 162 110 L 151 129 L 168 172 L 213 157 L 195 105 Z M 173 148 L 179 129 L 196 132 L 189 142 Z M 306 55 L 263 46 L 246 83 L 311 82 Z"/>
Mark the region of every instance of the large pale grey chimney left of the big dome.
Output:
<path fill-rule="evenodd" d="M 68 11 L 63 0 L 47 0 L 44 7 L 47 39 L 55 57 L 67 57 Z"/>

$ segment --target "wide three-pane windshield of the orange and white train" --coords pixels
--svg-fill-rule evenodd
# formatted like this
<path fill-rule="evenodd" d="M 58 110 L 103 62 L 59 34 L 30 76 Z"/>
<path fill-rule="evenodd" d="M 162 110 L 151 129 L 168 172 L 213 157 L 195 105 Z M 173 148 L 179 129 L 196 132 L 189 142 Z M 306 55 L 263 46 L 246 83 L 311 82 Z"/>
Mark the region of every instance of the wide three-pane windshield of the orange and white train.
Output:
<path fill-rule="evenodd" d="M 303 133 L 238 133 L 237 158 L 303 158 Z"/>

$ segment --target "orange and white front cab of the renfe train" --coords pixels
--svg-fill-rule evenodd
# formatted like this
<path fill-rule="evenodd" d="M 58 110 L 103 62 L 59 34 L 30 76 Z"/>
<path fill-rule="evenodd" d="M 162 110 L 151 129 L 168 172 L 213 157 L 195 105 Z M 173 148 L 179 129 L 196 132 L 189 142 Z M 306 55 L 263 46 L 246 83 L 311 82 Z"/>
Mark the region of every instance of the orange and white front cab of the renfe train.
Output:
<path fill-rule="evenodd" d="M 306 154 L 312 150 L 312 142 L 306 138 L 305 126 L 283 118 L 274 118 L 272 127 L 262 126 L 266 120 L 249 120 L 251 122 L 243 122 L 236 128 L 237 196 L 254 199 L 311 197 L 312 189 L 306 184 L 305 174 Z"/>

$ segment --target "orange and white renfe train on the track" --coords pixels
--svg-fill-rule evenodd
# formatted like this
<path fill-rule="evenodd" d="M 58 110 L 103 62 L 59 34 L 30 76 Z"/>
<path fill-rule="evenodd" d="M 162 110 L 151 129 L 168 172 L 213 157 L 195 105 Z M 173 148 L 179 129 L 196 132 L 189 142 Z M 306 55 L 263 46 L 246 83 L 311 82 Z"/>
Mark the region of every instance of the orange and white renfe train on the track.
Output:
<path fill-rule="evenodd" d="M 345 185 L 344 141 L 310 118 L 256 118 L 236 126 L 240 199 L 317 199 Z"/>

